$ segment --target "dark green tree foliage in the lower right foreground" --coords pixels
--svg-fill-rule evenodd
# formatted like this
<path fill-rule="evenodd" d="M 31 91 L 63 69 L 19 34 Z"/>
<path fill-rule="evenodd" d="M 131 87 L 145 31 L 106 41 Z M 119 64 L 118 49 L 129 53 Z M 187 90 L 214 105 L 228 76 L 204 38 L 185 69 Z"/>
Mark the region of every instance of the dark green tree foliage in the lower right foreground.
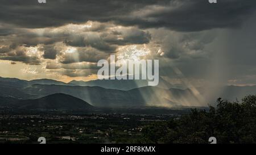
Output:
<path fill-rule="evenodd" d="M 217 99 L 209 111 L 192 109 L 190 114 L 143 128 L 142 143 L 256 143 L 256 95 L 241 103 Z"/>

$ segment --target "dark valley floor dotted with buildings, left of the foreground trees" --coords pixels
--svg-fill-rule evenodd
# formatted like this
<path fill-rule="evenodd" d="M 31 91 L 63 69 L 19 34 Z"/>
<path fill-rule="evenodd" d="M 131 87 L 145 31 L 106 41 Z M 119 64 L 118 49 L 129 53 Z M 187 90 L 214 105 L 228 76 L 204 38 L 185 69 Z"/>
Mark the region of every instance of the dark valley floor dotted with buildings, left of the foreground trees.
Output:
<path fill-rule="evenodd" d="M 179 114 L 0 114 L 0 143 L 139 143 L 142 129 Z"/>

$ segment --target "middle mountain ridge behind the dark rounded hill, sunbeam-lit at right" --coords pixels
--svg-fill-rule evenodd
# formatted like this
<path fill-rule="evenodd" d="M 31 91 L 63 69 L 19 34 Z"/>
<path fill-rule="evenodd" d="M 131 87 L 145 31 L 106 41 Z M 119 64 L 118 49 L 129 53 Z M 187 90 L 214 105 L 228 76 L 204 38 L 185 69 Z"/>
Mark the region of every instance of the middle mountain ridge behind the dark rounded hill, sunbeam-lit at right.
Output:
<path fill-rule="evenodd" d="M 64 93 L 85 100 L 93 106 L 189 106 L 199 105 L 199 100 L 191 90 L 162 89 L 159 87 L 140 87 L 132 90 L 104 89 L 90 86 L 33 85 L 23 89 L 34 97 L 54 93 Z"/>

